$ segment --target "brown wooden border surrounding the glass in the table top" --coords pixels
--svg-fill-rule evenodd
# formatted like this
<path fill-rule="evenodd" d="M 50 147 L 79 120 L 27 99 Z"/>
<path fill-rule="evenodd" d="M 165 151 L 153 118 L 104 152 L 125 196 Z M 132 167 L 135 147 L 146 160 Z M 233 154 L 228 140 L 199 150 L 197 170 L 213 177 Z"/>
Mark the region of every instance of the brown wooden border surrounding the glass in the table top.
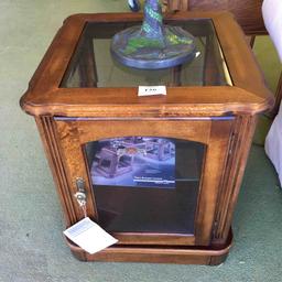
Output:
<path fill-rule="evenodd" d="M 180 12 L 167 14 L 170 20 L 187 20 L 193 18 L 213 19 L 219 41 L 227 59 L 235 87 L 170 87 L 167 97 L 138 98 L 137 88 L 58 88 L 67 64 L 76 47 L 78 37 L 87 21 L 129 21 L 140 20 L 140 14 L 78 14 L 68 18 L 54 39 L 44 59 L 37 68 L 30 87 L 21 99 L 22 108 L 35 116 L 96 116 L 107 104 L 119 116 L 119 105 L 124 101 L 133 115 L 143 115 L 150 104 L 147 115 L 177 115 L 180 108 L 176 101 L 187 104 L 189 113 L 221 116 L 227 112 L 248 110 L 256 113 L 270 108 L 273 97 L 264 86 L 258 65 L 251 55 L 250 48 L 245 44 L 242 32 L 231 20 L 231 15 L 224 12 Z M 69 32 L 72 31 L 72 32 Z M 252 73 L 252 76 L 249 74 Z M 256 83 L 253 83 L 256 82 Z M 241 88 L 241 89 L 240 89 Z M 116 97 L 116 98 L 115 98 Z M 104 105 L 98 105 L 104 100 Z M 231 101 L 231 102 L 230 102 Z M 155 105 L 154 105 L 155 104 Z M 160 105 L 162 112 L 160 112 Z M 127 107 L 127 106 L 124 106 Z M 134 109 L 132 109 L 134 108 Z M 156 109 L 159 108 L 159 109 Z M 175 111 L 174 109 L 175 108 Z M 84 109 L 84 110 L 82 110 Z M 185 109 L 185 106 L 183 107 Z M 129 113 L 129 109 L 126 109 Z M 129 115 L 129 116 L 130 116 Z M 187 115 L 183 112 L 183 115 Z"/>

